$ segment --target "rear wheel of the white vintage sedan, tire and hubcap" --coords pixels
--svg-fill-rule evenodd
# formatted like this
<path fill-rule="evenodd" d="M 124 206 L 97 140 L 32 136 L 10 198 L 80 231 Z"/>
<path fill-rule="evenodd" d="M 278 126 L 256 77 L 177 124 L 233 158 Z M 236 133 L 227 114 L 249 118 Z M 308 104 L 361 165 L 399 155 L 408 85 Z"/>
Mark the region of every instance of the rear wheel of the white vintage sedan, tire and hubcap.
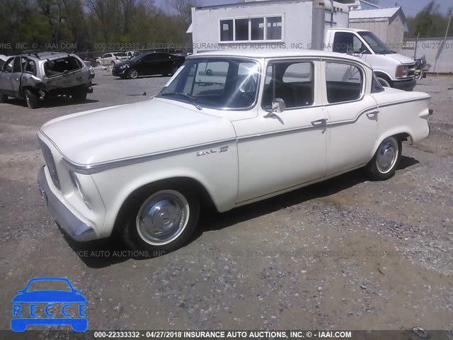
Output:
<path fill-rule="evenodd" d="M 365 166 L 365 174 L 375 181 L 390 179 L 401 162 L 401 150 L 401 138 L 386 137 L 377 147 L 373 159 Z"/>

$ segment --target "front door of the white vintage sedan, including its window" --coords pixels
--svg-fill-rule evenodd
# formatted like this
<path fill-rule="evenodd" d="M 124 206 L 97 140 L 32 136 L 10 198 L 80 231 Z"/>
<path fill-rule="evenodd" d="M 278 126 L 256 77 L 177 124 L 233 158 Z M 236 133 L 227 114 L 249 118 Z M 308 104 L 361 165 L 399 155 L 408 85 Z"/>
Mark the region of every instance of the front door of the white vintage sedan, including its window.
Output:
<path fill-rule="evenodd" d="M 316 105 L 319 63 L 280 60 L 268 64 L 258 116 L 233 122 L 238 137 L 239 196 L 248 203 L 324 176 L 326 113 Z M 276 98 L 286 109 L 272 114 Z"/>

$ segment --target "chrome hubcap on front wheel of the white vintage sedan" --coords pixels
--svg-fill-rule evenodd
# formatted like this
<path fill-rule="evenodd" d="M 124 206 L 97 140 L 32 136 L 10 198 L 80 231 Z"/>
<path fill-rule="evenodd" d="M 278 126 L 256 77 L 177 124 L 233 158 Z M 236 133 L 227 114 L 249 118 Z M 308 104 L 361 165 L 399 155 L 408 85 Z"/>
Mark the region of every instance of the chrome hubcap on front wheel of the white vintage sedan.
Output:
<path fill-rule="evenodd" d="M 189 204 L 183 195 L 173 190 L 159 191 L 139 209 L 137 231 L 149 244 L 167 244 L 183 232 L 188 217 Z"/>

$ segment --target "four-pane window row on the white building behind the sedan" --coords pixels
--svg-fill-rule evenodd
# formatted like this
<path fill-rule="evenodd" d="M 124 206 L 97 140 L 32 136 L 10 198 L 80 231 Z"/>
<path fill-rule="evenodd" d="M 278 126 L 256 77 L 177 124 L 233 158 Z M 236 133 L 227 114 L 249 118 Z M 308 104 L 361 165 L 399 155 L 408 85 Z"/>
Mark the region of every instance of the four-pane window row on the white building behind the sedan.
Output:
<path fill-rule="evenodd" d="M 221 20 L 220 41 L 282 40 L 282 28 L 282 16 Z"/>

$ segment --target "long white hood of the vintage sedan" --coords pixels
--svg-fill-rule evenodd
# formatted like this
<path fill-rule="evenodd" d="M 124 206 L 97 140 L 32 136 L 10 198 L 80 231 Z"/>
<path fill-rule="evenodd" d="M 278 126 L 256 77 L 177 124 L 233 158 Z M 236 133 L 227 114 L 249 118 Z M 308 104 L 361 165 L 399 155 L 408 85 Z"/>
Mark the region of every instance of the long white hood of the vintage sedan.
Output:
<path fill-rule="evenodd" d="M 118 159 L 220 142 L 236 137 L 230 120 L 198 111 L 192 104 L 149 101 L 74 113 L 42 125 L 40 138 L 52 142 L 74 164 Z"/>

